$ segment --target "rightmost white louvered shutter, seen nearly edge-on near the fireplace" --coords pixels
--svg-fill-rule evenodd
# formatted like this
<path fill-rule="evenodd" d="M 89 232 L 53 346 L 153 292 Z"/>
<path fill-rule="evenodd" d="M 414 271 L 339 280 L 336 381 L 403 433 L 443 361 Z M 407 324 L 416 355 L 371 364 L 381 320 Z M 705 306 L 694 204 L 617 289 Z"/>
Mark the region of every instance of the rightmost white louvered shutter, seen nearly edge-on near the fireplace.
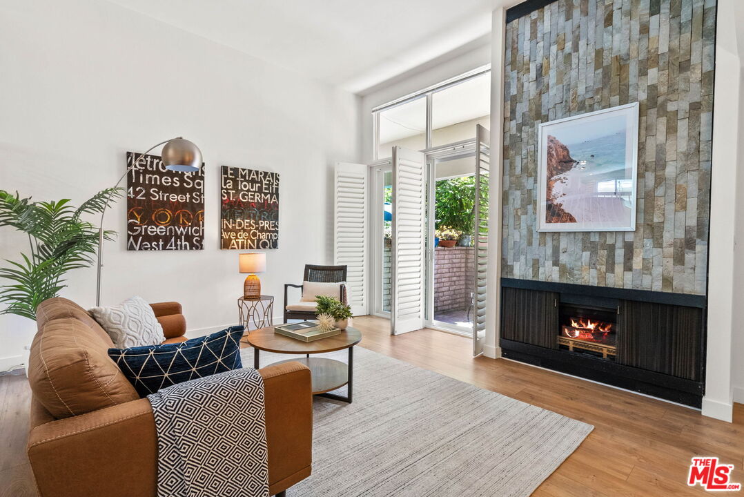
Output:
<path fill-rule="evenodd" d="M 483 353 L 486 340 L 486 307 L 488 276 L 488 179 L 490 177 L 490 134 L 480 124 L 475 126 L 475 241 L 473 263 L 475 286 L 473 289 L 472 355 Z"/>

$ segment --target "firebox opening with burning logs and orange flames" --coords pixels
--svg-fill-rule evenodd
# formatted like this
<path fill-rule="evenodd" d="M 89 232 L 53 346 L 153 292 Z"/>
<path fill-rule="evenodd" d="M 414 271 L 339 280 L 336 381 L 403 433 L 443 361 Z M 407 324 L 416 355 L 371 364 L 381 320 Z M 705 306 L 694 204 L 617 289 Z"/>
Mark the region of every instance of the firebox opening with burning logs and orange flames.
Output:
<path fill-rule="evenodd" d="M 616 309 L 562 302 L 558 330 L 559 349 L 615 360 L 618 327 L 616 316 Z"/>

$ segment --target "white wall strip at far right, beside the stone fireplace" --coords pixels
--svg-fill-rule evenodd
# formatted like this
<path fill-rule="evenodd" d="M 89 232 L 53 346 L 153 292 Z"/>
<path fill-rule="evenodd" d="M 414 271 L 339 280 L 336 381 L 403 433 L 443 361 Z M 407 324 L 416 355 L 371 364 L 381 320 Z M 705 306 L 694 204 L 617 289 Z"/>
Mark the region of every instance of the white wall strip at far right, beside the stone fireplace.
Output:
<path fill-rule="evenodd" d="M 744 87 L 740 79 L 740 0 L 719 0 L 716 27 L 716 88 L 713 102 L 711 237 L 708 267 L 708 349 L 702 413 L 731 421 L 734 386 L 743 385 L 740 365 L 741 289 L 744 278 L 744 174 L 741 119 Z"/>

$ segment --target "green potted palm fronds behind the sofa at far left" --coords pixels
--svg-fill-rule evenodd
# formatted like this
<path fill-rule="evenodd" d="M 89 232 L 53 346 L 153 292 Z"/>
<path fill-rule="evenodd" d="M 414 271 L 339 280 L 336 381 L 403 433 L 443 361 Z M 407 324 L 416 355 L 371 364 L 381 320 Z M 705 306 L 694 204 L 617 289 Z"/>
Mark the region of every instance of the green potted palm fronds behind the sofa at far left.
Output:
<path fill-rule="evenodd" d="M 100 214 L 111 199 L 122 195 L 121 188 L 96 193 L 78 208 L 70 199 L 31 202 L 19 194 L 0 190 L 0 226 L 10 226 L 28 237 L 28 252 L 20 260 L 6 260 L 0 268 L 2 314 L 17 314 L 36 319 L 36 307 L 48 298 L 57 297 L 65 288 L 65 275 L 71 269 L 94 264 L 98 245 L 98 227 L 83 220 L 86 214 Z M 115 231 L 104 231 L 112 240 Z"/>

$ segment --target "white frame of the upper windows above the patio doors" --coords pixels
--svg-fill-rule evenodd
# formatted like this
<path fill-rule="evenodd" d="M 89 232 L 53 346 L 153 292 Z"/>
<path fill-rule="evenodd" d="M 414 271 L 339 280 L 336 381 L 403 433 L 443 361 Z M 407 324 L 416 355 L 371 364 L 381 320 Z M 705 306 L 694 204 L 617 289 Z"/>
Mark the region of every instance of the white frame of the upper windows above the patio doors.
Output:
<path fill-rule="evenodd" d="M 459 76 L 452 77 L 449 80 L 444 80 L 441 83 L 437 83 L 436 85 L 429 86 L 425 89 L 422 89 L 418 92 L 410 93 L 407 95 L 404 95 L 403 97 L 397 98 L 396 100 L 392 100 L 391 102 L 384 103 L 380 106 L 376 106 L 372 109 L 372 161 L 376 162 L 379 160 L 384 160 L 385 157 L 380 158 L 379 157 L 379 124 L 380 124 L 380 112 L 384 112 L 388 109 L 393 109 L 394 107 L 401 106 L 405 103 L 409 103 L 413 100 L 417 100 L 421 97 L 426 97 L 426 148 L 420 150 L 420 152 L 423 153 L 429 153 L 433 152 L 434 150 L 441 150 L 446 147 L 451 147 L 453 144 L 460 144 L 462 142 L 453 142 L 451 144 L 442 144 L 437 145 L 437 147 L 432 147 L 432 135 L 434 133 L 434 130 L 432 129 L 432 100 L 434 98 L 434 93 L 441 92 L 444 89 L 448 89 L 452 86 L 457 86 L 460 83 L 464 83 L 467 80 L 472 80 L 475 77 L 482 76 L 484 74 L 490 73 L 491 71 L 491 65 L 483 65 L 479 68 L 475 68 L 472 71 L 468 71 L 464 74 L 460 74 Z M 472 140 L 464 140 L 465 141 L 472 141 Z"/>

